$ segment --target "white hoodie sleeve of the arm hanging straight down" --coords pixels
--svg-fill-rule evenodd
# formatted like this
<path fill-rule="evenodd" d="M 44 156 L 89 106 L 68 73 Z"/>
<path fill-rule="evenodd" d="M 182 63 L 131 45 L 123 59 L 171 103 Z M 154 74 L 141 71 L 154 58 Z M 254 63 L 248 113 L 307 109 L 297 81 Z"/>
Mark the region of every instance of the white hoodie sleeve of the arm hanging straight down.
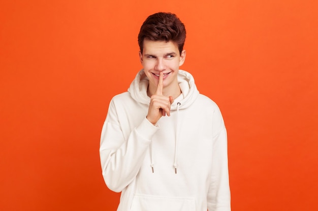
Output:
<path fill-rule="evenodd" d="M 208 210 L 230 211 L 227 131 L 221 113 L 216 112 L 214 116 L 215 135 L 213 136 L 211 183 L 207 195 Z"/>

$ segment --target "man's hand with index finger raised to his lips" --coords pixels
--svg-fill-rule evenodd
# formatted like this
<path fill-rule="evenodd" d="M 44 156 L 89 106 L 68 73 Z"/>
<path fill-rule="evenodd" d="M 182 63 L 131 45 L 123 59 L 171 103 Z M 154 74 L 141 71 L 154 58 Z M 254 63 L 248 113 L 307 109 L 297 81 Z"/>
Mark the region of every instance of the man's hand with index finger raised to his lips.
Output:
<path fill-rule="evenodd" d="M 150 97 L 150 104 L 146 118 L 154 125 L 162 117 L 170 116 L 170 106 L 173 103 L 172 96 L 163 96 L 164 73 L 160 72 L 157 89 Z"/>

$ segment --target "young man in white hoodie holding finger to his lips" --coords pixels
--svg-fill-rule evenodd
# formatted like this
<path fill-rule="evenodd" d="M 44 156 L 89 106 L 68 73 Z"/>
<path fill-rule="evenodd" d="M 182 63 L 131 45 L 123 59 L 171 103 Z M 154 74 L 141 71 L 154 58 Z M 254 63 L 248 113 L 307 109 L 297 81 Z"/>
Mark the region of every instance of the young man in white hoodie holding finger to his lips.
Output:
<path fill-rule="evenodd" d="M 231 210 L 227 133 L 217 105 L 179 70 L 185 28 L 156 13 L 141 26 L 139 71 L 115 96 L 103 126 L 100 156 L 117 211 Z"/>

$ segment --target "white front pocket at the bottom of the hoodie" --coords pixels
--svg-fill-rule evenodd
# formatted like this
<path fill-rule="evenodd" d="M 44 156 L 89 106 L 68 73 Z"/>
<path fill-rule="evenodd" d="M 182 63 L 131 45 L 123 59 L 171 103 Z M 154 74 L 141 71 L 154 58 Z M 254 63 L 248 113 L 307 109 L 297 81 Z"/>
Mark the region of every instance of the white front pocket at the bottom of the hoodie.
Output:
<path fill-rule="evenodd" d="M 195 211 L 194 198 L 134 195 L 131 211 Z"/>

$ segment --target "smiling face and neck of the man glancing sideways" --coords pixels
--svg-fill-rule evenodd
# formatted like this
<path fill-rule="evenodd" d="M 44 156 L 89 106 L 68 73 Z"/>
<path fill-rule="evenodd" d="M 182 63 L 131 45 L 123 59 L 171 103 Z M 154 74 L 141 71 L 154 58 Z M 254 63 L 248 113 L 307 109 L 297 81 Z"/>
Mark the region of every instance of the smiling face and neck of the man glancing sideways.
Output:
<path fill-rule="evenodd" d="M 173 92 L 178 85 L 177 74 L 179 66 L 185 59 L 185 50 L 179 53 L 178 46 L 172 41 L 144 40 L 143 53 L 139 52 L 140 61 L 145 74 L 149 78 L 151 94 L 157 88 L 160 72 L 164 73 L 163 92 Z"/>

